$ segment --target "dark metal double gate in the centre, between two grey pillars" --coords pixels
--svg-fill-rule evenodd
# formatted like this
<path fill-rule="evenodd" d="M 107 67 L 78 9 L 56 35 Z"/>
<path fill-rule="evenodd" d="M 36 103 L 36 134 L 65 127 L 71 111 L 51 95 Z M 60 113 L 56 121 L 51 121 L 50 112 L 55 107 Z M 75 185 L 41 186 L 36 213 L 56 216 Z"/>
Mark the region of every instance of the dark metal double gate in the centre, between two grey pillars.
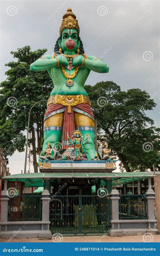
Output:
<path fill-rule="evenodd" d="M 52 234 L 104 234 L 111 228 L 110 196 L 50 196 Z"/>

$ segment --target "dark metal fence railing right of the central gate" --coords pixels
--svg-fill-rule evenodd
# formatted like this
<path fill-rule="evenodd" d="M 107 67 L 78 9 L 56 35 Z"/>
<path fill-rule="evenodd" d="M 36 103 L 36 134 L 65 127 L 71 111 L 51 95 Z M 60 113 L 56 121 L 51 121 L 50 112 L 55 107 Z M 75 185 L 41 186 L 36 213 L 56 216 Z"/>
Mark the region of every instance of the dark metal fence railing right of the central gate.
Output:
<path fill-rule="evenodd" d="M 119 219 L 146 219 L 144 195 L 119 195 Z"/>

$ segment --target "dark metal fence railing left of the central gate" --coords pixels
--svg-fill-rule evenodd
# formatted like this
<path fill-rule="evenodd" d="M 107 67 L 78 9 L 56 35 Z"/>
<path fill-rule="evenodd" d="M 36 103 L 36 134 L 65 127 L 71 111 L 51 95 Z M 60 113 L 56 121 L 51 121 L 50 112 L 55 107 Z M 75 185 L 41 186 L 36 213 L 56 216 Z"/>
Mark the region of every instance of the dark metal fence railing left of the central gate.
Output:
<path fill-rule="evenodd" d="M 42 219 L 42 196 L 22 195 L 9 198 L 8 221 Z"/>

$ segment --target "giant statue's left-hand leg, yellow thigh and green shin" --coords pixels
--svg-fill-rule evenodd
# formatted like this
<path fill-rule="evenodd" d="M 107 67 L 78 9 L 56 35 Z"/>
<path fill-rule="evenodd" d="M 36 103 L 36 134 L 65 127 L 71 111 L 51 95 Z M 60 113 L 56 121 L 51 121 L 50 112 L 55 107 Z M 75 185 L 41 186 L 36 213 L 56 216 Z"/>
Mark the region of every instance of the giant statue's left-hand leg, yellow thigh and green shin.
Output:
<path fill-rule="evenodd" d="M 44 143 L 43 151 L 47 148 L 47 143 L 50 142 L 51 146 L 57 147 L 58 151 L 61 151 L 62 146 L 59 142 L 62 136 L 64 113 L 58 113 L 47 118 L 44 122 Z M 53 156 L 52 151 L 52 156 Z"/>

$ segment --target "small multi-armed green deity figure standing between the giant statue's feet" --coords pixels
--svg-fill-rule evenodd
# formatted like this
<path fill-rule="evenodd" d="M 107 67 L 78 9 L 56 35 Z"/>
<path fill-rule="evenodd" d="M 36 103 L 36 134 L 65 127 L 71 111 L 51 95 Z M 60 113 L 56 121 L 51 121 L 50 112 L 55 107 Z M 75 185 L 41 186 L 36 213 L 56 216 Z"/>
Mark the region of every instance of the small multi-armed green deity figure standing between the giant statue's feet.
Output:
<path fill-rule="evenodd" d="M 80 132 L 79 130 L 76 130 L 73 132 L 73 136 L 74 136 L 74 139 L 70 139 L 70 136 L 69 134 L 67 135 L 67 138 L 68 138 L 68 145 L 74 145 L 74 149 L 75 149 L 75 158 L 73 160 L 82 160 L 82 156 L 83 156 L 83 144 L 88 144 L 89 141 L 89 137 L 88 137 L 88 134 L 86 134 L 86 139 L 84 140 L 83 139 L 83 136 L 82 136 L 82 132 Z M 73 137 L 72 136 L 72 137 Z"/>

